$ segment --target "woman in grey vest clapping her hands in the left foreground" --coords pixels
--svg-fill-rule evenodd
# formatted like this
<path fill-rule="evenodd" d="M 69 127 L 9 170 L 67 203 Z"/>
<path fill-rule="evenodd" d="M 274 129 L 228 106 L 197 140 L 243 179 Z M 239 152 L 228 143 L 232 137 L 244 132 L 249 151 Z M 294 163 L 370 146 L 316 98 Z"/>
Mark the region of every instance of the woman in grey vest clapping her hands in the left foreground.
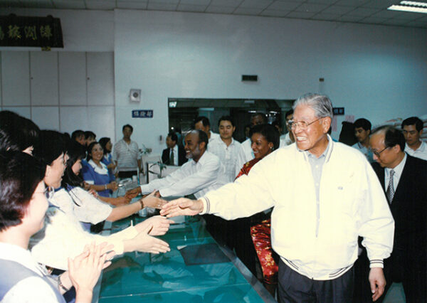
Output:
<path fill-rule="evenodd" d="M 105 245 L 85 248 L 68 260 L 68 272 L 48 275 L 28 251 L 31 235 L 43 227 L 48 199 L 46 165 L 21 151 L 0 152 L 0 299 L 12 302 L 65 302 L 62 294 L 75 286 L 76 302 L 91 302 L 102 268 L 112 253 Z M 105 249 L 104 249 L 105 248 Z"/>

